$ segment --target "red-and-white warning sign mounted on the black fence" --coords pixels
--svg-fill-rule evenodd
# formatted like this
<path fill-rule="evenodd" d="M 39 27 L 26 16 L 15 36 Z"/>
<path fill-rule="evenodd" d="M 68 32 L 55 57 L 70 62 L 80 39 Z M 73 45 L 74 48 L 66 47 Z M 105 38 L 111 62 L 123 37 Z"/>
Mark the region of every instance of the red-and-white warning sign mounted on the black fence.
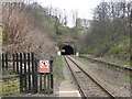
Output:
<path fill-rule="evenodd" d="M 50 61 L 40 61 L 40 73 L 50 73 Z"/>

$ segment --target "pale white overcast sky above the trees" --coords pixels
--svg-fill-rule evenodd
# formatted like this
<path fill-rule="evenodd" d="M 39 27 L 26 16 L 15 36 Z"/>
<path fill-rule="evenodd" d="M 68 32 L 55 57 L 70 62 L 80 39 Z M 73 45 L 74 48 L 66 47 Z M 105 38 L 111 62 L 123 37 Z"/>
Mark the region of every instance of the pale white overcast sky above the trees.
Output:
<path fill-rule="evenodd" d="M 68 20 L 72 22 L 72 10 L 78 11 L 78 18 L 81 19 L 92 19 L 94 9 L 101 2 L 101 1 L 120 1 L 120 0 L 36 0 L 43 7 L 58 8 L 64 10 L 68 14 Z M 130 1 L 130 0 L 127 0 Z M 69 23 L 68 24 L 72 24 Z"/>

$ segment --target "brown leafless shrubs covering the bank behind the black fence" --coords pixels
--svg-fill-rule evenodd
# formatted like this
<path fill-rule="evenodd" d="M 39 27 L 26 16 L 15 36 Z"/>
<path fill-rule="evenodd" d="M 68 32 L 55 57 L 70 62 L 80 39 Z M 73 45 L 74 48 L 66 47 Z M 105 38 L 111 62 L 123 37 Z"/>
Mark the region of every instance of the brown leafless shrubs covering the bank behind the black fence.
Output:
<path fill-rule="evenodd" d="M 34 52 L 44 57 L 55 48 L 55 16 L 38 3 L 2 3 L 3 52 Z"/>

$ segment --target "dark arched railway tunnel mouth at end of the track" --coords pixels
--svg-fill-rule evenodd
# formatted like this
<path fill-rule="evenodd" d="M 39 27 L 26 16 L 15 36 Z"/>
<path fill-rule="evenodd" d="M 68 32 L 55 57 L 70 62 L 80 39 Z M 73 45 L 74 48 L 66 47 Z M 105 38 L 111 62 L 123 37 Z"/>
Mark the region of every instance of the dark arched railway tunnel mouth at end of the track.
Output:
<path fill-rule="evenodd" d="M 66 45 L 62 48 L 62 55 L 73 55 L 74 48 L 70 45 Z"/>

